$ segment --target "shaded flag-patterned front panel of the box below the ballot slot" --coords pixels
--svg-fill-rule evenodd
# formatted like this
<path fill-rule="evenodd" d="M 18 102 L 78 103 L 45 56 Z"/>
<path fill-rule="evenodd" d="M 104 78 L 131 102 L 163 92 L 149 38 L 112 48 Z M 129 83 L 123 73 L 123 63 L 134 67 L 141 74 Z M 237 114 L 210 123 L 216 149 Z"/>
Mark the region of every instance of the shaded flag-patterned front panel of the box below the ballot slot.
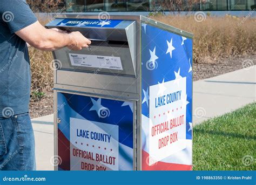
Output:
<path fill-rule="evenodd" d="M 133 103 L 57 93 L 59 170 L 133 170 Z"/>

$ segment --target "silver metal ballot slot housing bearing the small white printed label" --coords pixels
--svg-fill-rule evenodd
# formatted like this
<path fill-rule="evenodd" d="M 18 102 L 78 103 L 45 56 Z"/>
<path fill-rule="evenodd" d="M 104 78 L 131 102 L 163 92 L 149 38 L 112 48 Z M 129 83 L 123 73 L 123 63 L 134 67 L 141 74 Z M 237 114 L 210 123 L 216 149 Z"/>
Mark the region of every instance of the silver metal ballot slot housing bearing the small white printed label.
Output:
<path fill-rule="evenodd" d="M 120 21 L 118 28 L 70 26 L 62 24 L 63 21 L 65 19 L 53 20 L 46 28 L 79 31 L 91 40 L 91 45 L 80 51 L 68 48 L 53 51 L 55 59 L 61 62 L 59 70 L 136 77 L 136 36 L 130 33 L 132 29 L 128 31 L 136 24 L 134 21 Z"/>

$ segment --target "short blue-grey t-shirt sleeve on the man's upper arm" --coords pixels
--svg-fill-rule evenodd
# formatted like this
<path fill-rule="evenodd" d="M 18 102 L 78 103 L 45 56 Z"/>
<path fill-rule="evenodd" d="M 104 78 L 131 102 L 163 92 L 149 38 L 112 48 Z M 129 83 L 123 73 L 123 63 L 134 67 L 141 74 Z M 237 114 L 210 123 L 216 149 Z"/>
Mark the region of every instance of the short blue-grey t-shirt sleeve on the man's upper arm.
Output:
<path fill-rule="evenodd" d="M 25 0 L 1 0 L 0 15 L 8 25 L 10 32 L 15 33 L 37 21 L 35 14 Z"/>

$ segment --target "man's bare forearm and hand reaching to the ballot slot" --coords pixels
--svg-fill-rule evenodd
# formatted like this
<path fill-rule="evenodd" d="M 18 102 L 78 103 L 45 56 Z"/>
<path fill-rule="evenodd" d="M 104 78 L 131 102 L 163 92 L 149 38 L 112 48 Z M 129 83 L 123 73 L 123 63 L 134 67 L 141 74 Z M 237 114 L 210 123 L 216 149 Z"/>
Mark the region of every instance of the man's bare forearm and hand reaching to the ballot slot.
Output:
<path fill-rule="evenodd" d="M 58 50 L 65 46 L 71 50 L 82 50 L 91 44 L 91 41 L 78 31 L 65 33 L 46 29 L 38 21 L 15 33 L 31 46 L 43 51 Z"/>

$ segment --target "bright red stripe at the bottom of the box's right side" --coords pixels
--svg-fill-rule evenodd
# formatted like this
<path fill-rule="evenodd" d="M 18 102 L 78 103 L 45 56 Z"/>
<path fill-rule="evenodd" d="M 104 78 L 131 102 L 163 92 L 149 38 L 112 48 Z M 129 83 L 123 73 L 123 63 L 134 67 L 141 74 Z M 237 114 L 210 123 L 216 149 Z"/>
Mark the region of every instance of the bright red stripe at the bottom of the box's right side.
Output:
<path fill-rule="evenodd" d="M 161 161 L 149 166 L 149 154 L 142 150 L 142 170 L 192 170 L 192 166 Z"/>

